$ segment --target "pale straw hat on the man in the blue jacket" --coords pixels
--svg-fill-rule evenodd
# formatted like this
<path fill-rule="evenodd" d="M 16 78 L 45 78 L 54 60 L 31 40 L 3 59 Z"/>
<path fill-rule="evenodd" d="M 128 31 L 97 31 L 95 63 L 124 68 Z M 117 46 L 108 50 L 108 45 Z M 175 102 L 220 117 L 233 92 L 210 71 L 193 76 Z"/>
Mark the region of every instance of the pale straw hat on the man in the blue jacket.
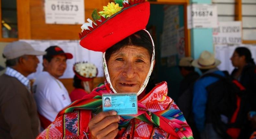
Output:
<path fill-rule="evenodd" d="M 199 59 L 196 59 L 192 62 L 192 66 L 199 69 L 213 69 L 220 63 L 220 60 L 215 59 L 213 54 L 208 51 L 203 51 Z"/>

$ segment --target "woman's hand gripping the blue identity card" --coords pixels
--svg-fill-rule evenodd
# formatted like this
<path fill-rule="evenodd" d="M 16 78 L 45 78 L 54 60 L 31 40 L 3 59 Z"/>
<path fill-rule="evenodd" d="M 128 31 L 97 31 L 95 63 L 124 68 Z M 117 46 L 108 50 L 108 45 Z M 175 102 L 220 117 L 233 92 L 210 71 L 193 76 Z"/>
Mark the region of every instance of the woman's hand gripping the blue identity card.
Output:
<path fill-rule="evenodd" d="M 115 111 L 100 112 L 88 123 L 92 139 L 113 139 L 118 133 L 120 116 Z"/>

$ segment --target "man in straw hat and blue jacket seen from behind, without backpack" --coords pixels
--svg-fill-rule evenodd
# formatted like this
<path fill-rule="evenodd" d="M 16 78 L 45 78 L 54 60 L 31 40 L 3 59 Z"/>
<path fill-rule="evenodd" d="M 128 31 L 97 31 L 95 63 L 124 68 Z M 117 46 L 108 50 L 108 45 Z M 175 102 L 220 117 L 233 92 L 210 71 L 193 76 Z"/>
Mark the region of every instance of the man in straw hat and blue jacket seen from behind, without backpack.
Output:
<path fill-rule="evenodd" d="M 215 59 L 214 55 L 208 51 L 203 51 L 199 59 L 193 60 L 192 66 L 199 68 L 203 75 L 197 80 L 193 88 L 192 112 L 195 120 L 195 125 L 200 132 L 201 139 L 221 139 L 214 129 L 212 124 L 211 108 L 207 105 L 209 101 L 207 87 L 217 82 L 216 77 L 204 75 L 214 73 L 220 76 L 225 76 L 225 73 L 218 70 L 217 66 L 221 62 Z"/>

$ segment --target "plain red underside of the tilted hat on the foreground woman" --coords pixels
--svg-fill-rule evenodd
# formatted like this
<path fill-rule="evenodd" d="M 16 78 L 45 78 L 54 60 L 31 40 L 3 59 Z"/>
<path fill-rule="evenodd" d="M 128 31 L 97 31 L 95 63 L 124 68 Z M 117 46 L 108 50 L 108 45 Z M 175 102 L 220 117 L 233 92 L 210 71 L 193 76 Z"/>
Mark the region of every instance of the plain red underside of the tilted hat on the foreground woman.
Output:
<path fill-rule="evenodd" d="M 149 2 L 123 8 L 81 38 L 80 45 L 89 50 L 105 52 L 124 38 L 145 29 L 149 15 Z"/>

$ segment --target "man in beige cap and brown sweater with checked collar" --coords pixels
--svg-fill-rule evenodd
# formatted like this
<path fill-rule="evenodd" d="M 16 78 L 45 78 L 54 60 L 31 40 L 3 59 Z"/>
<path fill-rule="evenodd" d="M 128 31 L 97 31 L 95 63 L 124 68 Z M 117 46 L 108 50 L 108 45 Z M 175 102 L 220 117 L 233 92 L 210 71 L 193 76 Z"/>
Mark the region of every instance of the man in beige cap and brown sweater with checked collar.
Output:
<path fill-rule="evenodd" d="M 39 134 L 36 103 L 27 76 L 36 72 L 36 56 L 44 54 L 22 41 L 4 48 L 6 72 L 0 76 L 0 139 L 34 139 Z"/>

